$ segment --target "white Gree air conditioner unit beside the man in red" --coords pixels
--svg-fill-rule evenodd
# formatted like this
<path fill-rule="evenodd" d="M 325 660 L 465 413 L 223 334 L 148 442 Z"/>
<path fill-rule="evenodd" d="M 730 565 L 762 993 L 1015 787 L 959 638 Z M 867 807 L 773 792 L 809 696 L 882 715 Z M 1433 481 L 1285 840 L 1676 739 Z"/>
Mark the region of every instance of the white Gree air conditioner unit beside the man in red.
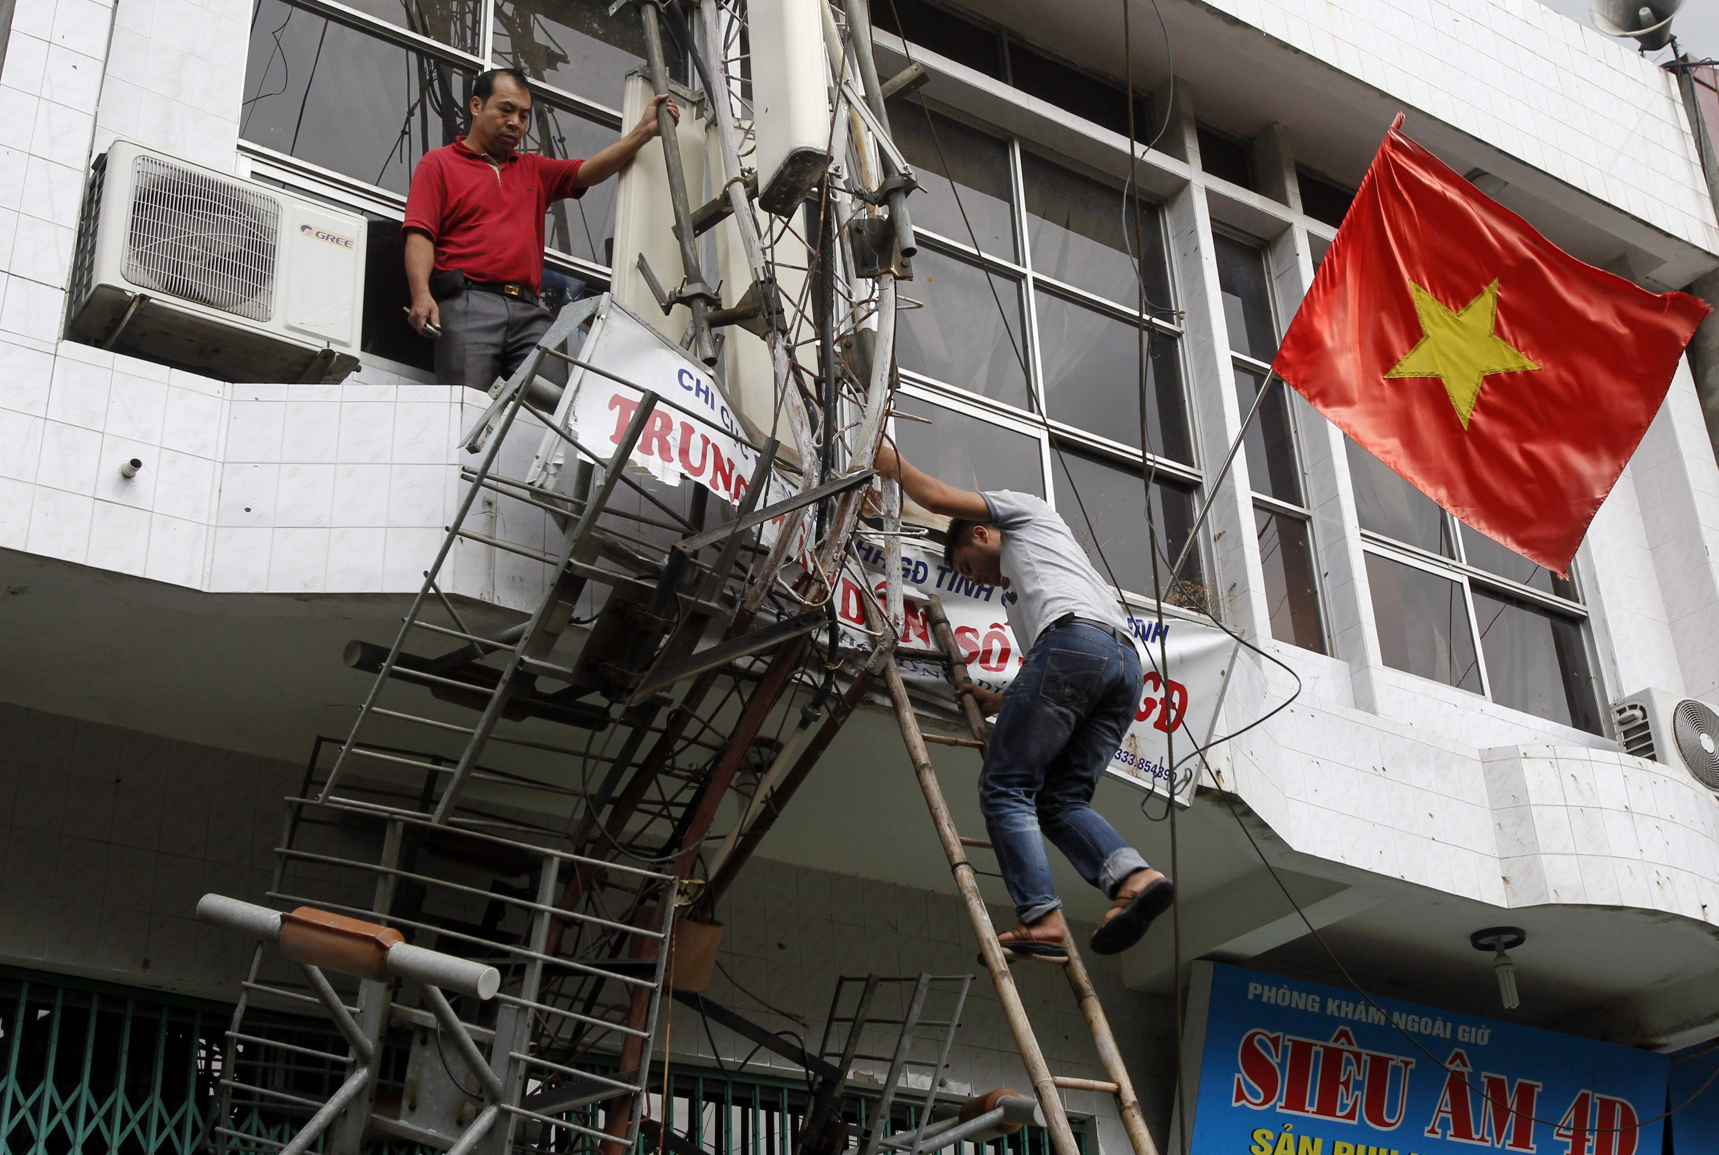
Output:
<path fill-rule="evenodd" d="M 115 141 L 84 191 L 67 337 L 225 382 L 339 382 L 358 366 L 364 227 Z"/>

